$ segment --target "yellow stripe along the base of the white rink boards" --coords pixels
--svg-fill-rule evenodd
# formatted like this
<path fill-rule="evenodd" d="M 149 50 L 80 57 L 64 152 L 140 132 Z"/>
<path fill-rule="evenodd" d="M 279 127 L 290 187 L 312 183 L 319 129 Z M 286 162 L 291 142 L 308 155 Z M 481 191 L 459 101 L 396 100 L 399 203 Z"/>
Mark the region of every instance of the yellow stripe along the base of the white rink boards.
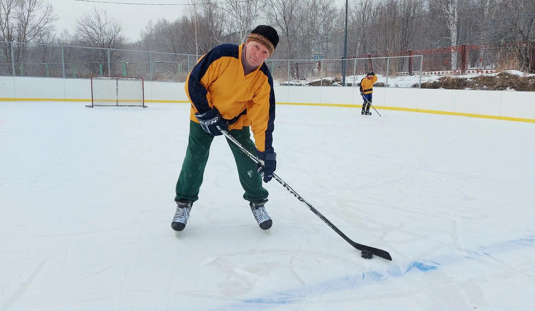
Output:
<path fill-rule="evenodd" d="M 0 102 L 90 102 L 90 99 L 86 98 L 0 98 Z M 120 102 L 133 102 L 135 100 L 121 100 Z M 146 100 L 146 103 L 189 103 L 189 101 L 170 101 L 170 100 Z M 353 105 L 353 104 L 317 104 L 317 103 L 284 103 L 278 102 L 279 105 L 303 105 L 303 106 L 325 106 L 325 107 L 349 107 L 349 108 L 362 108 L 362 104 Z M 416 109 L 416 108 L 403 108 L 403 107 L 388 107 L 388 106 L 378 106 L 377 109 L 383 110 L 397 110 L 397 111 L 410 111 L 410 112 L 423 112 L 423 113 L 433 113 L 435 115 L 448 115 L 448 116 L 462 116 L 462 117 L 471 117 L 471 118 L 484 118 L 484 119 L 496 119 L 496 120 L 506 120 L 506 121 L 515 121 L 515 122 L 529 122 L 535 123 L 535 119 L 527 118 L 517 118 L 517 117 L 502 117 L 502 116 L 491 116 L 491 115 L 479 115 L 477 113 L 464 113 L 464 112 L 454 112 L 454 111 L 440 111 L 440 110 L 427 110 L 427 109 Z"/>

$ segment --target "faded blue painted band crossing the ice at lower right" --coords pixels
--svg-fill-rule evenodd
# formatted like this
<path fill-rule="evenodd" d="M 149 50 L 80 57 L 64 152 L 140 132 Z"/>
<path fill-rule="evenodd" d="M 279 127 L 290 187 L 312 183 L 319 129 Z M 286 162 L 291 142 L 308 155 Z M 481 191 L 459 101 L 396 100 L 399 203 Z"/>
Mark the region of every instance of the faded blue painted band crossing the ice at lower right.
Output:
<path fill-rule="evenodd" d="M 322 298 L 321 302 L 326 302 L 325 298 L 322 297 L 324 295 L 334 294 L 343 291 L 351 291 L 356 289 L 357 287 L 389 282 L 393 281 L 394 279 L 403 278 L 410 275 L 427 274 L 428 272 L 440 271 L 442 269 L 452 269 L 448 268 L 448 266 L 453 266 L 454 264 L 469 264 L 470 266 L 474 266 L 477 263 L 485 264 L 490 268 L 502 269 L 501 274 L 503 274 L 503 269 L 505 268 L 507 270 L 510 270 L 509 272 L 511 272 L 511 275 L 514 275 L 516 273 L 526 278 L 532 279 L 533 277 L 535 277 L 535 271 L 531 271 L 531 274 L 529 274 L 529 272 L 519 271 L 518 269 L 510 267 L 505 262 L 497 259 L 496 255 L 515 252 L 522 249 L 525 249 L 527 253 L 530 253 L 533 247 L 535 247 L 535 236 L 526 236 L 524 238 L 519 238 L 516 240 L 502 242 L 500 244 L 483 247 L 478 249 L 477 251 L 468 251 L 465 252 L 465 254 L 441 255 L 432 257 L 431 259 L 427 260 L 410 261 L 407 263 L 397 264 L 395 266 L 388 267 L 384 270 L 368 270 L 364 271 L 362 274 L 340 276 L 337 278 L 325 280 L 324 282 L 316 283 L 314 285 L 305 286 L 304 284 L 302 284 L 302 286 L 300 287 L 294 287 L 293 289 L 281 290 L 276 292 L 273 291 L 272 294 L 265 295 L 264 297 L 244 299 L 241 302 L 236 302 L 235 304 L 210 309 L 210 311 L 231 311 L 238 309 L 262 310 L 273 308 L 276 305 L 306 304 L 307 302 L 310 302 L 312 300 L 319 300 L 319 298 Z M 483 279 L 497 279 L 493 275 L 486 274 L 486 272 L 482 269 L 478 269 L 477 267 L 473 268 L 478 270 L 481 274 L 484 274 L 484 276 L 482 277 Z M 500 271 L 496 273 L 500 274 Z M 433 276 L 427 277 L 432 278 Z M 448 283 L 458 283 L 460 285 L 461 283 L 465 282 L 464 280 L 448 281 Z M 515 289 L 524 291 L 519 287 L 506 283 L 506 281 L 499 281 L 508 286 L 514 287 Z M 410 289 L 406 289 L 404 291 L 410 291 Z M 529 295 L 530 293 L 526 292 L 526 294 Z M 400 295 L 400 292 L 395 292 L 392 293 L 390 297 L 398 295 Z M 378 293 L 375 298 L 386 298 L 386 296 L 387 295 L 382 295 L 381 297 L 381 293 Z M 345 297 L 347 297 L 347 295 Z M 331 299 L 332 302 L 343 301 L 343 299 L 341 299 L 339 296 L 336 296 Z M 354 296 L 353 300 L 357 299 L 358 296 Z M 349 298 L 348 300 L 351 299 Z M 477 307 L 474 307 L 474 309 L 477 309 Z"/>

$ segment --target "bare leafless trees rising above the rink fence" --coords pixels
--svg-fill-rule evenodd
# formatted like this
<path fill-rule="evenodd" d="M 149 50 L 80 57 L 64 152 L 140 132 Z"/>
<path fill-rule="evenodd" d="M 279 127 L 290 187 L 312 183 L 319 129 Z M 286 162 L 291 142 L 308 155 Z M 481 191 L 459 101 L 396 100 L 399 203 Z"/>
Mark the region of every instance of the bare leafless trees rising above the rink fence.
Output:
<path fill-rule="evenodd" d="M 0 41 L 59 43 L 202 55 L 223 42 L 241 43 L 258 24 L 280 43 L 272 58 L 343 54 L 345 3 L 332 0 L 189 0 L 175 20 L 150 21 L 129 42 L 120 20 L 104 9 L 82 12 L 58 32 L 44 0 L 0 0 Z M 535 0 L 351 0 L 347 54 L 535 40 Z M 2 46 L 3 55 L 7 48 Z M 97 53 L 98 54 L 98 53 Z M 95 55 L 103 58 L 104 55 Z M 108 57 L 107 55 L 105 57 Z"/>

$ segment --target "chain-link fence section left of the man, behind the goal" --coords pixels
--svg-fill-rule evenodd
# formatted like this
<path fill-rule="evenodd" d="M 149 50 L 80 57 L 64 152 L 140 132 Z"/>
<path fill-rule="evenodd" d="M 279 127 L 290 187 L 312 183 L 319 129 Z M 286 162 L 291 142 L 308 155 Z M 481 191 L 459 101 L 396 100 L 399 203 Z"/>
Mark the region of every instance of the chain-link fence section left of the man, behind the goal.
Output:
<path fill-rule="evenodd" d="M 197 59 L 165 52 L 0 42 L 0 75 L 19 77 L 87 79 L 104 75 L 183 82 Z"/>

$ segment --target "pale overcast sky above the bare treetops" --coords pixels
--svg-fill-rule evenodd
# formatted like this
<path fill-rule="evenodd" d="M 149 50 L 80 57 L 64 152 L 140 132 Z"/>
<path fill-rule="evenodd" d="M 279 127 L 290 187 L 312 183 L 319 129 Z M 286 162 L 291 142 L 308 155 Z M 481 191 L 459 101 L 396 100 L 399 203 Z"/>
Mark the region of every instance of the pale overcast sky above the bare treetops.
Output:
<path fill-rule="evenodd" d="M 142 29 L 147 26 L 150 19 L 156 21 L 158 18 L 175 20 L 182 15 L 186 5 L 132 5 L 132 4 L 108 4 L 81 2 L 74 0 L 45 0 L 52 4 L 59 20 L 56 22 L 58 33 L 67 29 L 72 33 L 72 28 L 77 17 L 85 11 L 89 11 L 93 5 L 102 7 L 108 13 L 120 20 L 125 26 L 125 35 L 131 41 L 139 39 Z M 101 0 L 106 2 L 127 2 L 127 3 L 187 3 L 187 0 Z M 220 0 L 219 2 L 224 2 Z M 345 3 L 344 0 L 334 0 L 337 3 Z"/>

